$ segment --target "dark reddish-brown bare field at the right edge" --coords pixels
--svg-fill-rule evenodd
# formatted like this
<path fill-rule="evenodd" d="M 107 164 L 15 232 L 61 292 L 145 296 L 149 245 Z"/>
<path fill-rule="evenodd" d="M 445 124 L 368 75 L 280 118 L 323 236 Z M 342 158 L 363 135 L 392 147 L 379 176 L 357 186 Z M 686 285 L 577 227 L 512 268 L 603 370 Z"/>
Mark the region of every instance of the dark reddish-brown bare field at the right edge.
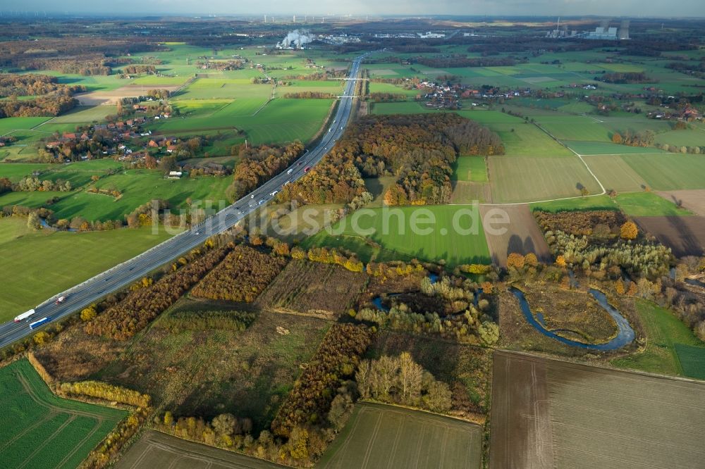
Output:
<path fill-rule="evenodd" d="M 636 217 L 635 221 L 677 257 L 701 256 L 705 252 L 705 217 Z"/>

